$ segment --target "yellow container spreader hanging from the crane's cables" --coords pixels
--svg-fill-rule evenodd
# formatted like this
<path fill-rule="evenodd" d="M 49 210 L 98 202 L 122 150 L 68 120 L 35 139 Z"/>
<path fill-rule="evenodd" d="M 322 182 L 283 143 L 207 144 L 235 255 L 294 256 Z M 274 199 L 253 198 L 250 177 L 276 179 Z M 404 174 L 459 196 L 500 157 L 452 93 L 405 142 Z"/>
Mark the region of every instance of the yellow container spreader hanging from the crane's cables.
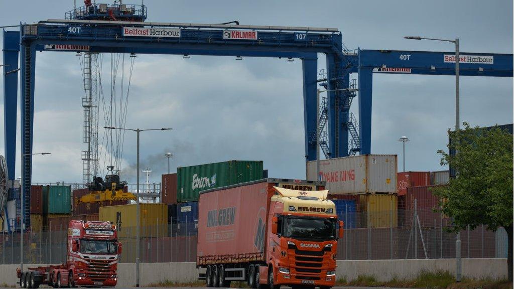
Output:
<path fill-rule="evenodd" d="M 109 172 L 105 176 L 105 180 L 101 177 L 93 177 L 93 182 L 88 184 L 89 193 L 83 195 L 78 201 L 79 203 L 136 200 L 134 194 L 124 191 L 126 182 L 120 182 L 120 176 L 113 173 L 113 167 L 107 168 Z"/>

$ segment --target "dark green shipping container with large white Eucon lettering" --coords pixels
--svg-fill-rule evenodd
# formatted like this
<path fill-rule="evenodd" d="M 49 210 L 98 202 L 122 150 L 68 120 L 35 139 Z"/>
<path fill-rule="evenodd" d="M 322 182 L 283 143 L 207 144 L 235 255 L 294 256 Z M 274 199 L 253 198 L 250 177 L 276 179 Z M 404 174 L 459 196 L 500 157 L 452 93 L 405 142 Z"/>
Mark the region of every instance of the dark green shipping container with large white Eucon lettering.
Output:
<path fill-rule="evenodd" d="M 263 178 L 262 160 L 229 160 L 177 168 L 177 202 L 198 201 L 200 191 Z"/>

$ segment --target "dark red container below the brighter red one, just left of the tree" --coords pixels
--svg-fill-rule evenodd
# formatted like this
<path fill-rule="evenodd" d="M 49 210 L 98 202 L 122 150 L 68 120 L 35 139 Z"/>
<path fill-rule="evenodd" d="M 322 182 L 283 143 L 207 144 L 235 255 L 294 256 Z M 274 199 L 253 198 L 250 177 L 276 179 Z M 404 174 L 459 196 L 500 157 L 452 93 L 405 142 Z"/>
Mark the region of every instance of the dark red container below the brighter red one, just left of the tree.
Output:
<path fill-rule="evenodd" d="M 405 220 L 406 226 L 412 225 L 414 218 L 414 200 L 416 200 L 417 215 L 421 227 L 433 227 L 434 219 L 438 226 L 439 219 L 446 218 L 441 213 L 434 212 L 434 208 L 439 208 L 439 197 L 434 195 L 430 189 L 435 187 L 440 186 L 420 186 L 407 189 L 407 195 L 405 196 L 405 209 L 407 211 Z"/>

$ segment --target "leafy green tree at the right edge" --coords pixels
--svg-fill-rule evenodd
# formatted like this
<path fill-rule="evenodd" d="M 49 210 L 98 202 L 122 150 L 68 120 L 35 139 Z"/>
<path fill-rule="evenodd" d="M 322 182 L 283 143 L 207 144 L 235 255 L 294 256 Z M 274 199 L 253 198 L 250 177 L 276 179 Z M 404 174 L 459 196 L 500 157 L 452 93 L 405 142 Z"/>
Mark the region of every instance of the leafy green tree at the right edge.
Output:
<path fill-rule="evenodd" d="M 498 127 L 449 132 L 448 154 L 439 150 L 441 165 L 457 172 L 448 185 L 434 188 L 442 212 L 453 218 L 452 231 L 485 225 L 495 231 L 503 227 L 508 236 L 508 279 L 512 281 L 513 137 Z"/>

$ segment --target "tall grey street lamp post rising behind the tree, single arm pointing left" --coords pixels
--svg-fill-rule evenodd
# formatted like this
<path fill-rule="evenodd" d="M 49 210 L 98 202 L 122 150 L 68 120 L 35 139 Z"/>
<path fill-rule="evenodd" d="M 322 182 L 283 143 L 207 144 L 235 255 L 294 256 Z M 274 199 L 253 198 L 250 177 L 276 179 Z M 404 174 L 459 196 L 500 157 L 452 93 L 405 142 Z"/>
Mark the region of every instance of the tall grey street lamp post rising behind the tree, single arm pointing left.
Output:
<path fill-rule="evenodd" d="M 455 38 L 455 40 L 449 40 L 449 39 L 435 39 L 435 38 L 423 38 L 419 36 L 406 36 L 405 39 L 414 39 L 414 40 L 436 40 L 436 41 L 447 41 L 455 44 L 455 131 L 458 131 L 461 129 L 460 124 L 460 83 L 459 83 L 459 64 L 460 64 L 460 56 L 458 53 L 458 38 Z M 462 280 L 462 247 L 461 247 L 461 232 L 459 231 L 457 234 L 457 240 L 455 242 L 455 259 L 456 259 L 456 272 L 455 272 L 455 281 L 461 282 Z"/>

